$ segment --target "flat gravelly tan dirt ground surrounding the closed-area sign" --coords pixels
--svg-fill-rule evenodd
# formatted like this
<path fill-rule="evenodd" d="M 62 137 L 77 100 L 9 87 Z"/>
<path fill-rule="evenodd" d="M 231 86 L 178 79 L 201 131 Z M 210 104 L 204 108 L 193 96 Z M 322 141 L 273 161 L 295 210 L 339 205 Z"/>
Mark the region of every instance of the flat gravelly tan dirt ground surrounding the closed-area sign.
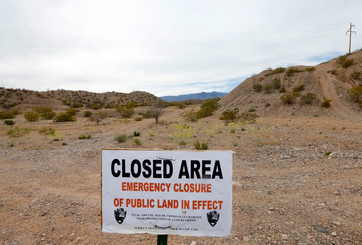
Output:
<path fill-rule="evenodd" d="M 192 150 L 196 140 L 234 151 L 232 230 L 169 235 L 168 244 L 362 244 L 360 123 L 314 114 L 225 126 L 216 115 L 186 122 L 189 109 L 167 108 L 158 124 L 109 117 L 97 125 L 82 111 L 76 122 L 2 122 L 0 244 L 156 244 L 157 235 L 101 232 L 101 149 Z M 180 132 L 177 123 L 191 128 Z M 15 126 L 30 133 L 10 137 Z M 57 134 L 39 134 L 45 126 Z M 115 140 L 134 131 L 141 145 Z"/>

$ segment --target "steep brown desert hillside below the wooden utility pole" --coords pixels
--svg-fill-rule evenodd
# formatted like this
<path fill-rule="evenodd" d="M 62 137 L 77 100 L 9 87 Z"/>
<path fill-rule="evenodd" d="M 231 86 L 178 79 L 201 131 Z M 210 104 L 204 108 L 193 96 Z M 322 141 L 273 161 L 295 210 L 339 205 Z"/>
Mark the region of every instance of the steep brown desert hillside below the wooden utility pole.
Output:
<path fill-rule="evenodd" d="M 348 59 L 353 59 L 353 64 L 343 68 L 343 62 Z M 362 82 L 361 73 L 362 51 L 334 58 L 316 66 L 269 68 L 247 78 L 222 98 L 219 104 L 222 110 L 238 108 L 240 112 L 244 112 L 253 108 L 255 113 L 263 116 L 328 115 L 360 120 L 361 110 L 349 99 L 346 91 Z M 257 86 L 260 91 L 255 89 Z M 303 89 L 295 102 L 283 103 L 281 96 L 298 88 Z M 307 93 L 316 96 L 311 104 L 306 104 L 301 99 Z M 330 100 L 329 108 L 321 107 L 325 99 Z"/>

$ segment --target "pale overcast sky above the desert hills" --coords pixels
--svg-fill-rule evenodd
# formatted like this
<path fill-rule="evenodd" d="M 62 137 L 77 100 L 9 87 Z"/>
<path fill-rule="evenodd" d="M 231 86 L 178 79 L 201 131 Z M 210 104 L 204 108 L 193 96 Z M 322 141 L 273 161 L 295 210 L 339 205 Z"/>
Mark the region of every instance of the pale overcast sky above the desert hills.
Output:
<path fill-rule="evenodd" d="M 362 48 L 361 0 L 0 0 L 0 87 L 230 92 Z"/>

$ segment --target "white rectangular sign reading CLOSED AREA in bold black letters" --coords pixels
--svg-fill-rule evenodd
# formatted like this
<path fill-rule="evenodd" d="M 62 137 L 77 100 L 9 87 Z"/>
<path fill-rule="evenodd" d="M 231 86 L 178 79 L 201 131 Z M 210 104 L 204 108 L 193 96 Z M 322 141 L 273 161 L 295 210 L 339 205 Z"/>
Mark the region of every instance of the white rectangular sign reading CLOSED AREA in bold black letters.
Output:
<path fill-rule="evenodd" d="M 228 236 L 232 151 L 102 149 L 102 231 Z"/>

